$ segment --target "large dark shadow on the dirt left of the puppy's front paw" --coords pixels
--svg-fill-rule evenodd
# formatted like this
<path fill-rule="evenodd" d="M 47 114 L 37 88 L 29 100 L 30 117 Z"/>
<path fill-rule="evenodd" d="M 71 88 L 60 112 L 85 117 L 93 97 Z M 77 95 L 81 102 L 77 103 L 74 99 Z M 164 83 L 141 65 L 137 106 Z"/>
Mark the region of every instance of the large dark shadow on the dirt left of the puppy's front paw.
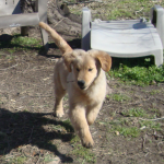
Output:
<path fill-rule="evenodd" d="M 69 131 L 73 131 L 71 125 L 46 118 L 51 114 L 17 112 L 11 113 L 0 108 L 0 155 L 9 153 L 12 149 L 24 144 L 36 145 L 58 155 L 62 162 L 72 163 L 72 157 L 60 153 L 50 140 L 60 139 L 62 142 L 70 141 L 73 133 L 61 133 L 60 131 L 47 132 L 43 126 L 52 124 L 62 126 Z"/>

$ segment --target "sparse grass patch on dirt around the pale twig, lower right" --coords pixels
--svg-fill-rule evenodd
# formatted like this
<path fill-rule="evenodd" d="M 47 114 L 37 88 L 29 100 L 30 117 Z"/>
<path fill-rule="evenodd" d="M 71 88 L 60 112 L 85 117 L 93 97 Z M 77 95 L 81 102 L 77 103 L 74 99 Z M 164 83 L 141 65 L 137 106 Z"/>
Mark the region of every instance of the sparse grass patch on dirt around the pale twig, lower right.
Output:
<path fill-rule="evenodd" d="M 151 112 L 149 114 L 148 112 Z M 122 112 L 121 118 L 114 119 L 112 121 L 99 121 L 101 126 L 105 126 L 107 132 L 113 132 L 117 136 L 124 136 L 125 138 L 137 138 L 140 136 L 143 130 L 162 130 L 161 122 L 151 120 L 156 118 L 157 109 L 148 109 L 142 108 L 130 108 Z"/>

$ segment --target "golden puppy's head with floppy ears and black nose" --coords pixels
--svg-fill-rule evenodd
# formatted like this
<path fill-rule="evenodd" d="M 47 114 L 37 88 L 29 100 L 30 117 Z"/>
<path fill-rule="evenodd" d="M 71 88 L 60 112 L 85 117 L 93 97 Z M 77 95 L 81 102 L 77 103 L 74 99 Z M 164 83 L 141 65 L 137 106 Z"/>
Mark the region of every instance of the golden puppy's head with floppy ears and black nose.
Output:
<path fill-rule="evenodd" d="M 99 50 L 77 49 L 65 54 L 63 60 L 68 71 L 73 71 L 75 82 L 81 90 L 89 89 L 98 77 L 101 68 L 107 72 L 112 67 L 110 56 Z"/>

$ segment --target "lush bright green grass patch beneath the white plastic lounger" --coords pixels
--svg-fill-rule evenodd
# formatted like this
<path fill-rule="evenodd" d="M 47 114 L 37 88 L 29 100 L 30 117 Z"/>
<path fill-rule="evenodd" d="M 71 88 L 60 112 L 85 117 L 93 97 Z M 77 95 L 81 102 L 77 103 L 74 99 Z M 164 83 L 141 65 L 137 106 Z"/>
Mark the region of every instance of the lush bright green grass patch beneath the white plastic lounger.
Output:
<path fill-rule="evenodd" d="M 160 68 L 155 66 L 128 66 L 120 63 L 118 68 L 114 68 L 109 74 L 127 84 L 151 85 L 164 82 L 164 65 Z"/>

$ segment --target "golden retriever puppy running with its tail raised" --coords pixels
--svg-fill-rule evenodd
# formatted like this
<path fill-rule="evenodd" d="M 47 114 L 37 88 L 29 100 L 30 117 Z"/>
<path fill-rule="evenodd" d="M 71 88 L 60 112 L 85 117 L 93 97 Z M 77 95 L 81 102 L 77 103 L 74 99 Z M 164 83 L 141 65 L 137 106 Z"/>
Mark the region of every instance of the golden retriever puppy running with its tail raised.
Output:
<path fill-rule="evenodd" d="M 73 50 L 50 26 L 43 22 L 39 26 L 51 35 L 63 54 L 55 66 L 55 115 L 62 117 L 62 98 L 68 92 L 72 126 L 83 147 L 92 148 L 94 141 L 89 126 L 94 122 L 103 105 L 106 95 L 104 71 L 109 71 L 112 58 L 99 50 Z"/>

